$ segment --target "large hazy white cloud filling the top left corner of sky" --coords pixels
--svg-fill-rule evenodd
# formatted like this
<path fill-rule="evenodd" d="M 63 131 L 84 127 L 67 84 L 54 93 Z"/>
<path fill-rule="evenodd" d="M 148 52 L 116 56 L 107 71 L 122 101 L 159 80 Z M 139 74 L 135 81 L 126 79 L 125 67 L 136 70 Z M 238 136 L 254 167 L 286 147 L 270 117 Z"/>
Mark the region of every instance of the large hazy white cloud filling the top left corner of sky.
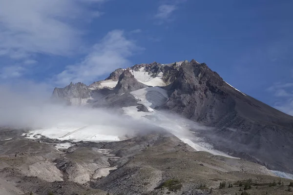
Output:
<path fill-rule="evenodd" d="M 71 54 L 83 33 L 73 23 L 100 16 L 88 7 L 104 1 L 0 0 L 0 55 L 20 59 L 31 53 Z"/>

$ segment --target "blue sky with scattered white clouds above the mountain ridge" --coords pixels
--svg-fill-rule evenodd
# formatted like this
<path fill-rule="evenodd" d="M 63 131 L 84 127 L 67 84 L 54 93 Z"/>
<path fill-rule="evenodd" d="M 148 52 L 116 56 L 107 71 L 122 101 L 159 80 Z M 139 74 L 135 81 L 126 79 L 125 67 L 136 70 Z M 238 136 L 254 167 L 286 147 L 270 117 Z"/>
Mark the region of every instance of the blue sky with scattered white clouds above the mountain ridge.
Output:
<path fill-rule="evenodd" d="M 0 0 L 0 82 L 89 84 L 119 67 L 205 62 L 293 115 L 292 0 Z"/>

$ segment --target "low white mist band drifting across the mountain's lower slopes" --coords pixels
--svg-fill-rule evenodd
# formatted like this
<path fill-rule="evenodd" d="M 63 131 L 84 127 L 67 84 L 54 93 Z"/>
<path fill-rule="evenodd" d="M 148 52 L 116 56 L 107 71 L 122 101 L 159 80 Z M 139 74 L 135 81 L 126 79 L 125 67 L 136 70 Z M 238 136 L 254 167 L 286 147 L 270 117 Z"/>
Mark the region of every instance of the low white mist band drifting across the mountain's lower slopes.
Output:
<path fill-rule="evenodd" d="M 17 87 L 0 86 L 0 91 L 0 127 L 44 131 L 52 128 L 62 131 L 92 127 L 91 133 L 110 136 L 165 130 L 181 137 L 190 135 L 189 127 L 205 128 L 162 112 L 134 119 L 114 109 L 52 103 L 52 89 L 46 85 L 30 83 Z"/>

